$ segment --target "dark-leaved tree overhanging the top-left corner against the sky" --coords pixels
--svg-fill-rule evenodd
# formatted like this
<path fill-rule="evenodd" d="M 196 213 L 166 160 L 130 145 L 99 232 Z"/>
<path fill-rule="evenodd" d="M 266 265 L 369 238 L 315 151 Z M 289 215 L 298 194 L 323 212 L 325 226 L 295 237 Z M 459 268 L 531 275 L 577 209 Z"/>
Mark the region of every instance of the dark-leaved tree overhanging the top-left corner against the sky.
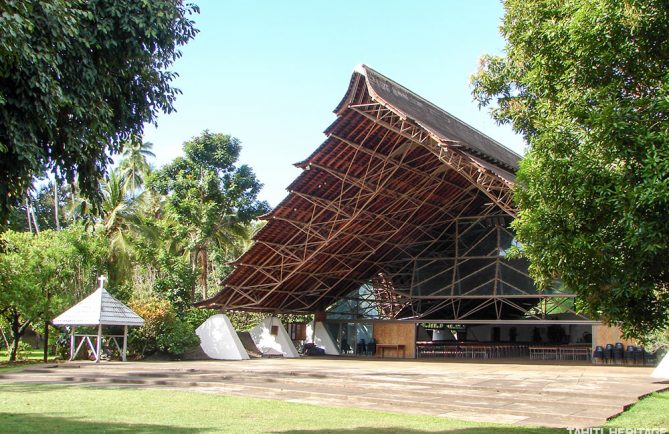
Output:
<path fill-rule="evenodd" d="M 198 11 L 181 0 L 0 2 L 0 223 L 54 169 L 99 204 L 109 155 L 173 110 L 167 68 Z"/>

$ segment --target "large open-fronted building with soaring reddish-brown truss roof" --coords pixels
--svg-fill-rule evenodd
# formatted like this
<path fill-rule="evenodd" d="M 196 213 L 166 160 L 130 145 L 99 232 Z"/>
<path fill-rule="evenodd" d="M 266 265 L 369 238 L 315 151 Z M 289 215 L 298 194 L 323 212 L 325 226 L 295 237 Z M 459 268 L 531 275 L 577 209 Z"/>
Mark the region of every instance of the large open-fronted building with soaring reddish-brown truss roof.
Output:
<path fill-rule="evenodd" d="M 456 333 L 588 341 L 596 322 L 574 311 L 575 296 L 538 291 L 525 260 L 508 257 L 518 154 L 364 65 L 335 113 L 200 306 L 317 313 L 342 347 L 375 337 L 410 354 L 416 341 Z"/>

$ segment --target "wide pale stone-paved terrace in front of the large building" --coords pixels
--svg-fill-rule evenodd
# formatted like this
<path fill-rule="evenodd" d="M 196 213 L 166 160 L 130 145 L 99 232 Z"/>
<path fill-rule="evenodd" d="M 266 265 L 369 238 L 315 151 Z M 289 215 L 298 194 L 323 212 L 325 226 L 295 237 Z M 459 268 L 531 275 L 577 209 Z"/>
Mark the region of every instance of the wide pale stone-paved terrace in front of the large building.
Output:
<path fill-rule="evenodd" d="M 34 382 L 150 387 L 334 407 L 554 427 L 597 426 L 669 387 L 651 368 L 350 358 L 88 362 L 0 375 Z"/>

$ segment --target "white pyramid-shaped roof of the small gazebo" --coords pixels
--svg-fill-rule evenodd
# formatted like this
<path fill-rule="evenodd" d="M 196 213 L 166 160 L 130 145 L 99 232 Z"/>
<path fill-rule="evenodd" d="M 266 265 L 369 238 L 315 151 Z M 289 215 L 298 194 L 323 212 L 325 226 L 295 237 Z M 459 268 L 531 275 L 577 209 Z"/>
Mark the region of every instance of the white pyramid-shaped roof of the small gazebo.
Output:
<path fill-rule="evenodd" d="M 54 325 L 144 325 L 142 317 L 104 288 L 98 288 L 52 322 Z"/>

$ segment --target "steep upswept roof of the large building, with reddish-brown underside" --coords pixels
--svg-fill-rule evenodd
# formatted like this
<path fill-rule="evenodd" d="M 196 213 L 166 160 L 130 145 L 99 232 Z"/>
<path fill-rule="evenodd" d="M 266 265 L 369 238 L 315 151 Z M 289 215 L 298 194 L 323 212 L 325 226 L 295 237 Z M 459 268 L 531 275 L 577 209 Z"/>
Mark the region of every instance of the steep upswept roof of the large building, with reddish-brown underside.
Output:
<path fill-rule="evenodd" d="M 354 71 L 335 113 L 221 292 L 197 306 L 322 310 L 401 274 L 461 216 L 515 214 L 520 156 L 373 69 Z"/>

